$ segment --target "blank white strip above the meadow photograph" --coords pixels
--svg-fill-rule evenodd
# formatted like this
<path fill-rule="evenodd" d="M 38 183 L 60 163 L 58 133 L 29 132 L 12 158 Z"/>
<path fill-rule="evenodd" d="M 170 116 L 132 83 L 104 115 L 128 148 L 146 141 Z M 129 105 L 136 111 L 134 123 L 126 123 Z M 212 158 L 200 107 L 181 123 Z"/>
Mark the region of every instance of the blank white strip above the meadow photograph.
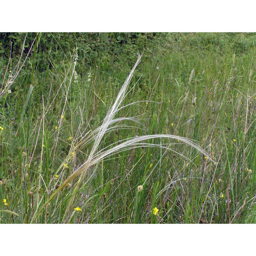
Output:
<path fill-rule="evenodd" d="M 1 3 L 0 32 L 256 32 L 255 1 Z"/>

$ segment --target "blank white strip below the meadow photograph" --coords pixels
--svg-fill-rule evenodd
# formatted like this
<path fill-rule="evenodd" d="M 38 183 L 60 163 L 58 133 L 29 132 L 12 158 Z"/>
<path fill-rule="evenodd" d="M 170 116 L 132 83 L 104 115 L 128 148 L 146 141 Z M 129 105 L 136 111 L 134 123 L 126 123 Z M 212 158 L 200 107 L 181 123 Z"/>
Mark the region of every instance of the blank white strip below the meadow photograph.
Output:
<path fill-rule="evenodd" d="M 255 225 L 238 224 L 1 224 L 0 228 L 3 255 L 247 255 L 255 242 Z"/>

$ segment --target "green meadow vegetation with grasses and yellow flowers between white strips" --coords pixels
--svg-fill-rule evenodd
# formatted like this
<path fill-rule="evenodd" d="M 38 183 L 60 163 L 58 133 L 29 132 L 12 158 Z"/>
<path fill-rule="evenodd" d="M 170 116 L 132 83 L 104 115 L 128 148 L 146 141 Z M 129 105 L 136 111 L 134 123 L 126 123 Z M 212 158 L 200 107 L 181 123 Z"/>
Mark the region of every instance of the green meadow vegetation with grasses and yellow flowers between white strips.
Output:
<path fill-rule="evenodd" d="M 255 43 L 1 33 L 0 223 L 255 223 Z"/>

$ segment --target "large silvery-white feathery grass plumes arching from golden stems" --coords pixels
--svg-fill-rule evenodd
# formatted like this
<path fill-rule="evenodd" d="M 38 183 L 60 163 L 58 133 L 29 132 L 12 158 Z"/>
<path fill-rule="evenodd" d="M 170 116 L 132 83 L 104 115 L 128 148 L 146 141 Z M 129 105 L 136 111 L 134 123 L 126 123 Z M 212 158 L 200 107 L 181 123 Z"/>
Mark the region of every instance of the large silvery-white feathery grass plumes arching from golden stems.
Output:
<path fill-rule="evenodd" d="M 163 144 L 158 145 L 158 144 L 147 143 L 146 142 L 147 140 L 154 139 L 154 138 L 163 138 L 163 139 L 167 139 L 167 140 L 171 140 L 171 139 L 180 140 L 180 141 L 183 141 L 184 143 L 196 148 L 198 151 L 200 151 L 205 156 L 207 156 L 211 161 L 213 161 L 212 158 L 202 148 L 200 148 L 196 143 L 194 143 L 193 141 L 191 141 L 187 138 L 183 138 L 183 137 L 179 137 L 179 136 L 175 136 L 175 135 L 170 135 L 170 134 L 158 134 L 158 135 L 154 134 L 154 135 L 138 136 L 138 137 L 134 137 L 134 138 L 127 138 L 127 139 L 124 139 L 124 140 L 120 140 L 118 145 L 116 145 L 116 143 L 113 143 L 113 144 L 109 145 L 106 148 L 103 148 L 103 149 L 100 149 L 100 150 L 98 149 L 99 146 L 100 146 L 100 142 L 101 142 L 103 136 L 106 134 L 106 132 L 113 131 L 115 129 L 124 128 L 124 127 L 129 128 L 129 126 L 118 125 L 123 120 L 136 121 L 136 119 L 134 117 L 133 118 L 121 117 L 121 118 L 114 119 L 114 116 L 116 115 L 116 113 L 118 113 L 118 111 L 120 109 L 126 107 L 126 106 L 123 106 L 123 107 L 119 108 L 120 104 L 124 100 L 125 96 L 130 92 L 129 91 L 127 93 L 127 88 L 128 88 L 128 85 L 130 84 L 130 81 L 132 79 L 132 75 L 134 73 L 134 70 L 140 62 L 140 59 L 141 59 L 141 56 L 140 56 L 140 54 L 138 54 L 138 60 L 136 61 L 134 67 L 132 68 L 131 73 L 129 74 L 129 76 L 125 80 L 120 92 L 118 93 L 118 95 L 116 97 L 116 101 L 113 103 L 112 107 L 108 110 L 108 113 L 105 116 L 105 118 L 104 118 L 102 124 L 100 125 L 100 127 L 97 128 L 96 130 L 94 130 L 93 132 L 88 132 L 85 135 L 85 137 L 86 137 L 85 139 L 83 137 L 80 140 L 80 142 L 78 142 L 78 144 L 76 146 L 74 146 L 74 148 L 70 149 L 71 151 L 75 151 L 78 148 L 79 148 L 79 150 L 81 150 L 85 144 L 94 140 L 91 152 L 90 152 L 89 156 L 87 157 L 87 160 L 84 162 L 84 164 L 82 164 L 80 167 L 78 167 L 64 182 L 62 182 L 60 187 L 52 193 L 52 195 L 49 197 L 49 199 L 40 208 L 37 208 L 37 212 L 35 212 L 35 215 L 32 219 L 32 222 L 37 219 L 37 217 L 42 212 L 44 207 L 58 194 L 58 192 L 60 192 L 60 190 L 65 188 L 72 180 L 74 180 L 76 177 L 78 177 L 80 175 L 80 178 L 76 182 L 76 186 L 74 187 L 72 198 L 69 201 L 69 204 L 68 204 L 68 207 L 67 207 L 67 210 L 66 210 L 66 212 L 67 212 L 69 206 L 74 201 L 76 191 L 79 188 L 79 184 L 82 182 L 84 174 L 87 172 L 87 170 L 92 165 L 100 163 L 101 161 L 103 161 L 103 159 L 105 159 L 109 156 L 113 156 L 116 153 L 119 153 L 119 152 L 122 152 L 122 151 L 125 151 L 125 150 L 134 149 L 134 148 L 139 148 L 139 147 L 158 147 L 158 148 L 170 149 L 168 147 L 164 147 Z M 186 96 L 188 96 L 188 93 L 186 93 Z M 135 103 L 136 102 L 128 104 L 127 106 L 135 104 Z M 110 125 L 112 125 L 116 122 L 117 122 L 116 126 L 109 127 Z M 172 149 L 170 149 L 170 150 L 172 150 Z M 70 151 L 70 153 L 71 153 L 71 151 Z M 71 154 L 68 154 L 68 156 L 66 157 L 66 159 L 63 161 L 63 163 L 60 165 L 59 169 L 56 172 L 59 172 L 62 169 L 63 164 L 68 163 L 68 161 L 71 159 L 71 157 L 72 157 Z M 90 180 L 90 178 L 89 178 L 89 180 Z"/>

